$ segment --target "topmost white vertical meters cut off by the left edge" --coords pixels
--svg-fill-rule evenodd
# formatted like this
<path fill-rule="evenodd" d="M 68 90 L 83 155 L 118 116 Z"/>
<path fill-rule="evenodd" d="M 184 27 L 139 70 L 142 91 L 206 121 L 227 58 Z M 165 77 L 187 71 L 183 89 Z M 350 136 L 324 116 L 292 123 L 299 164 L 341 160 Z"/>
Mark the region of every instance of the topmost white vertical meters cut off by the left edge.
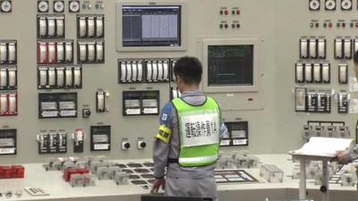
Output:
<path fill-rule="evenodd" d="M 16 41 L 0 41 L 0 64 L 16 64 Z"/>

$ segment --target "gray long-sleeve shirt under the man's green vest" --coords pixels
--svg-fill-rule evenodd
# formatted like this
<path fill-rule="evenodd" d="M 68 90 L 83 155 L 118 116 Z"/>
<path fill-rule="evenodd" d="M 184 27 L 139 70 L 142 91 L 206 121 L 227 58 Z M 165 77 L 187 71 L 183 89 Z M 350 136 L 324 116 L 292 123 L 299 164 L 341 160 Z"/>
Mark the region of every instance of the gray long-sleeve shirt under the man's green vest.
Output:
<path fill-rule="evenodd" d="M 190 105 L 202 105 L 206 101 L 206 96 L 200 90 L 185 91 L 182 95 L 183 100 Z M 172 131 L 169 142 L 156 138 L 153 148 L 153 161 L 155 164 L 154 175 L 157 178 L 163 177 L 165 172 L 167 177 L 200 179 L 214 176 L 216 164 L 200 167 L 182 167 L 178 163 L 168 163 L 168 158 L 178 158 L 180 151 L 180 137 L 178 117 L 175 106 L 169 102 L 160 114 L 160 125 L 166 126 Z M 221 126 L 221 136 L 227 132 L 225 124 Z"/>

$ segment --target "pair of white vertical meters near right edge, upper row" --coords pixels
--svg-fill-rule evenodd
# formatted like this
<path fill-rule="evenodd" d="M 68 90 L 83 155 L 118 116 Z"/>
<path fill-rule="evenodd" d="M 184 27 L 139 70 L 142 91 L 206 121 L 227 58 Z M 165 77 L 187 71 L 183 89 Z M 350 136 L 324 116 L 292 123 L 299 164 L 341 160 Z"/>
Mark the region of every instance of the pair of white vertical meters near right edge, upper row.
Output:
<path fill-rule="evenodd" d="M 358 38 L 336 38 L 335 39 L 335 58 L 352 59 L 352 43 L 354 43 L 354 52 L 358 49 Z"/>

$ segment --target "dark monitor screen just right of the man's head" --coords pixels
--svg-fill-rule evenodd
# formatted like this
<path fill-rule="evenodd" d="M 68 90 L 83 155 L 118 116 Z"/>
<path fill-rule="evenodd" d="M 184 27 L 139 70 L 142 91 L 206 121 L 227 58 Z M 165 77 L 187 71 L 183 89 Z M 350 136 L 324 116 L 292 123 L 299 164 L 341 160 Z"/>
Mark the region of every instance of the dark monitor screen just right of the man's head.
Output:
<path fill-rule="evenodd" d="M 252 86 L 253 45 L 208 46 L 208 86 Z"/>

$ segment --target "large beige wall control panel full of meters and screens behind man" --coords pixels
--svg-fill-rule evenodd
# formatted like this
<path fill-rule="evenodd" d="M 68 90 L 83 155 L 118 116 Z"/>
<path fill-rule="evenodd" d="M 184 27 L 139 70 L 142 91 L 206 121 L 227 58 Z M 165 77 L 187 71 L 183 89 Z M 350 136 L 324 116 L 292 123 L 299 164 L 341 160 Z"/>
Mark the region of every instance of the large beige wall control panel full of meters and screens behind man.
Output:
<path fill-rule="evenodd" d="M 185 55 L 199 58 L 200 89 L 220 105 L 222 150 L 286 153 L 307 121 L 345 122 L 310 124 L 315 136 L 353 130 L 357 5 L 0 1 L 1 161 L 150 158 L 161 109 L 182 96 L 174 67 Z"/>

